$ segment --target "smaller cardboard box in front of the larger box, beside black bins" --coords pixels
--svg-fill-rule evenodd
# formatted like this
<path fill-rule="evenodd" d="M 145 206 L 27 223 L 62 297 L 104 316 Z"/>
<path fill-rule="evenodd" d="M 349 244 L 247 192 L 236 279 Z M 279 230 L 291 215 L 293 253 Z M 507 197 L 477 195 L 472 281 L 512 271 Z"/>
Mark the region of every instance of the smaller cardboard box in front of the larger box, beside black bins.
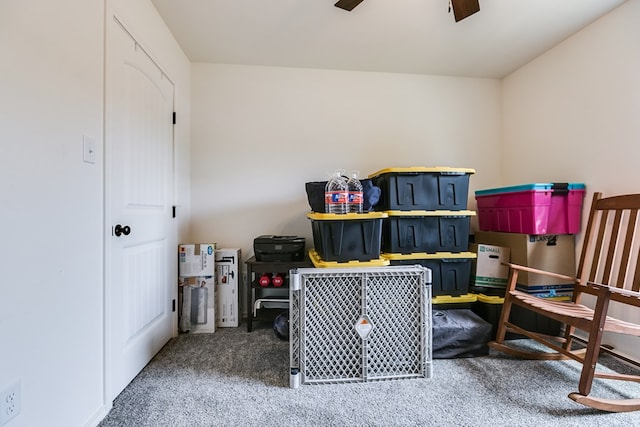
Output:
<path fill-rule="evenodd" d="M 504 289 L 509 278 L 509 267 L 502 265 L 509 262 L 511 250 L 508 247 L 472 243 L 469 250 L 476 253 L 472 270 L 474 286 Z"/>

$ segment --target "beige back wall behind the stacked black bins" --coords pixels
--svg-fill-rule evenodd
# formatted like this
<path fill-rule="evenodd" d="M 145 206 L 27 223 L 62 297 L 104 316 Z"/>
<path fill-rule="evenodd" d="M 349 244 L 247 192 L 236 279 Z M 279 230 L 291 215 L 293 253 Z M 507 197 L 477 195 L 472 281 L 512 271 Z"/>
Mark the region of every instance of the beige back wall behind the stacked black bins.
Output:
<path fill-rule="evenodd" d="M 501 181 L 500 99 L 498 80 L 192 64 L 191 239 L 312 247 L 305 183 L 336 168 L 474 168 L 475 208 Z"/>

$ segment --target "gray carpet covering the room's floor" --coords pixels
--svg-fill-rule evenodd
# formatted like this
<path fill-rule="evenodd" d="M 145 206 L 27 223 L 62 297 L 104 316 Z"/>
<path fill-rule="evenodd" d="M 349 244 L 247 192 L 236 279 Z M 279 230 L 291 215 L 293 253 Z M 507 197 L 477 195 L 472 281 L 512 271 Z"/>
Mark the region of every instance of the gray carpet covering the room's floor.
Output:
<path fill-rule="evenodd" d="M 492 350 L 437 359 L 433 374 L 292 389 L 289 344 L 270 328 L 185 334 L 117 397 L 100 427 L 640 425 L 640 412 L 603 413 L 570 400 L 579 375 L 573 361 L 522 361 Z M 593 394 L 640 396 L 640 384 L 596 381 Z"/>

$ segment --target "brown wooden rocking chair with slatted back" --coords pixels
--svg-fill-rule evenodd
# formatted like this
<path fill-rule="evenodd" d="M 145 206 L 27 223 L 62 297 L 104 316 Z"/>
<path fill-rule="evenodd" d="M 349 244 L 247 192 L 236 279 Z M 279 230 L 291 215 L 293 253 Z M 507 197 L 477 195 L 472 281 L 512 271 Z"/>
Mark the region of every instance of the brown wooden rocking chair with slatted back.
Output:
<path fill-rule="evenodd" d="M 604 332 L 640 336 L 640 325 L 607 315 L 610 302 L 635 308 L 640 315 L 640 227 L 636 224 L 640 210 L 640 194 L 602 198 L 593 195 L 589 220 L 584 231 L 582 251 L 575 278 L 509 264 L 510 276 L 504 305 L 496 332 L 489 345 L 499 351 L 527 359 L 573 359 L 582 364 L 578 392 L 570 393 L 574 401 L 603 411 L 626 412 L 640 409 L 637 399 L 601 399 L 589 396 L 594 378 L 640 382 L 640 375 L 596 372 L 600 353 L 608 353 L 627 363 L 640 363 L 602 345 Z M 636 239 L 637 237 L 637 239 Z M 563 280 L 575 280 L 571 301 L 554 301 L 516 290 L 518 273 L 544 274 Z M 586 295 L 585 295 L 586 294 Z M 588 305 L 582 303 L 591 298 Z M 531 332 L 509 319 L 513 305 L 565 325 L 564 337 Z M 593 308 L 590 308 L 593 307 Z M 576 333 L 579 330 L 581 333 Z M 505 342 L 505 334 L 515 332 L 544 344 L 553 352 L 524 351 Z M 578 344 L 578 345 L 574 345 Z M 576 349 L 576 347 L 578 347 Z M 585 348 L 586 347 L 586 348 Z"/>

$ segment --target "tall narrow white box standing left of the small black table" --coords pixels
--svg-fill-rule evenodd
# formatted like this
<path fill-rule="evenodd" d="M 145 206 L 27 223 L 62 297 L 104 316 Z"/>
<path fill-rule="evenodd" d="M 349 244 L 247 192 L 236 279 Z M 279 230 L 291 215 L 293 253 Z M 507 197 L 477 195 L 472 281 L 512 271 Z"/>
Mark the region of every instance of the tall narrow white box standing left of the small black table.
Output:
<path fill-rule="evenodd" d="M 216 326 L 240 326 L 240 249 L 216 249 Z"/>

